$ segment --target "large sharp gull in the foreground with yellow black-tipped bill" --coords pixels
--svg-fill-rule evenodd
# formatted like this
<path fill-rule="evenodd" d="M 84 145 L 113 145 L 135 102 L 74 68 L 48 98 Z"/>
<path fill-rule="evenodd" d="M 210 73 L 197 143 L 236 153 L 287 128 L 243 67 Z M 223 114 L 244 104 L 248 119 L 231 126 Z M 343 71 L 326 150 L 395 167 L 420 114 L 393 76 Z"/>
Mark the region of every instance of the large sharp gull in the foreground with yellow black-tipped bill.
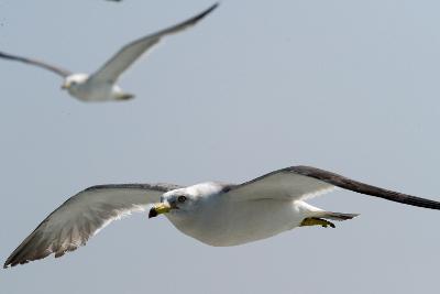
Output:
<path fill-rule="evenodd" d="M 164 214 L 183 233 L 226 247 L 270 238 L 305 226 L 334 228 L 331 220 L 356 214 L 322 210 L 305 200 L 336 187 L 431 209 L 440 203 L 363 184 L 309 166 L 278 170 L 233 185 L 213 182 L 188 187 L 120 184 L 89 187 L 66 200 L 12 252 L 4 268 L 74 251 L 112 220 L 133 211 Z"/>

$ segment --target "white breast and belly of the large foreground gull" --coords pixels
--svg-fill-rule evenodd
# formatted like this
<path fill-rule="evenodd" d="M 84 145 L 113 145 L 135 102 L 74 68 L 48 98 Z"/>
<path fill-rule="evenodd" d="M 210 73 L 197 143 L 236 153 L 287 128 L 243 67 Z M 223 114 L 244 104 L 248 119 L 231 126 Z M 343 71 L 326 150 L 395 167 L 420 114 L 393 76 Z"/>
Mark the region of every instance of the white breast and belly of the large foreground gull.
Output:
<path fill-rule="evenodd" d="M 299 202 L 227 202 L 221 195 L 202 211 L 168 219 L 182 232 L 210 246 L 238 246 L 290 230 L 302 221 L 306 211 Z"/>

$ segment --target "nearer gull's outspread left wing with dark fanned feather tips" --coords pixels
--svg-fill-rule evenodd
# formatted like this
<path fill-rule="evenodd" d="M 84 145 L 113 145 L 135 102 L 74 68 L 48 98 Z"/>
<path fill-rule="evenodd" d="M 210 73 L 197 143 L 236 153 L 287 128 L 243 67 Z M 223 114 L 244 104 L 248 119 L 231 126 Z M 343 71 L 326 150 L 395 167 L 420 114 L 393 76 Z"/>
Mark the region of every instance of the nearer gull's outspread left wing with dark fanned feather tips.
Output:
<path fill-rule="evenodd" d="M 74 251 L 111 221 L 144 211 L 162 194 L 178 188 L 169 184 L 122 184 L 89 187 L 70 197 L 11 253 L 3 268 Z"/>

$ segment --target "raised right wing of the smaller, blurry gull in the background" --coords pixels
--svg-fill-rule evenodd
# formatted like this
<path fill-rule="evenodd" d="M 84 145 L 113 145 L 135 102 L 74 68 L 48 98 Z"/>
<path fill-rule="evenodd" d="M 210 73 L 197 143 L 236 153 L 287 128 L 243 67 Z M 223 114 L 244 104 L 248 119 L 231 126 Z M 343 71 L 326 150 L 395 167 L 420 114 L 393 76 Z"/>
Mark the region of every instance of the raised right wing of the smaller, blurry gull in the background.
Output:
<path fill-rule="evenodd" d="M 184 21 L 174 26 L 162 30 L 157 33 L 141 37 L 136 41 L 129 43 L 123 46 L 113 57 L 111 57 L 98 72 L 91 75 L 91 80 L 114 83 L 118 77 L 132 65 L 145 51 L 157 44 L 161 39 L 168 34 L 180 32 L 189 26 L 195 25 L 198 21 L 208 15 L 219 4 L 216 3 L 205 10 L 204 12 L 193 17 L 191 19 Z"/>

